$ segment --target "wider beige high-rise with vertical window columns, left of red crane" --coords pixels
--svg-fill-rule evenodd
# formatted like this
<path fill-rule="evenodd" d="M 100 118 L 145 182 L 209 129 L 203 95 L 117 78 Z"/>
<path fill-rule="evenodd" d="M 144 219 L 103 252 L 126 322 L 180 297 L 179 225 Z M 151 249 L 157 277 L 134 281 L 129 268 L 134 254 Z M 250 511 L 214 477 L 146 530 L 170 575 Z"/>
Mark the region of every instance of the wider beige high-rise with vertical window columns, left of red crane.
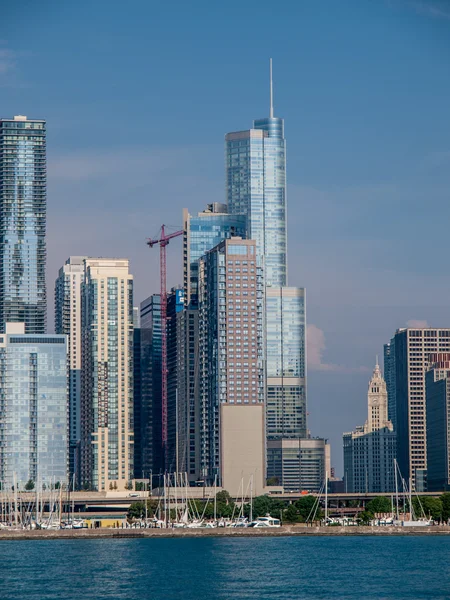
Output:
<path fill-rule="evenodd" d="M 133 479 L 133 277 L 128 260 L 88 258 L 82 286 L 82 483 Z"/>

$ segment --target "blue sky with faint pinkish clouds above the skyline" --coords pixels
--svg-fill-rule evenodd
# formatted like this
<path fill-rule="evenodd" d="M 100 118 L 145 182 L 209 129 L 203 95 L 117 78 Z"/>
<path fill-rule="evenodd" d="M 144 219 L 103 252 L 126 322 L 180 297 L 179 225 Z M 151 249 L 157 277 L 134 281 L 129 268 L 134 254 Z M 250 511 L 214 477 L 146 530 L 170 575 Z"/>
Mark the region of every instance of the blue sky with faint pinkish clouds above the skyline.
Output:
<path fill-rule="evenodd" d="M 158 291 L 162 223 L 223 202 L 224 135 L 275 115 L 289 284 L 306 288 L 308 411 L 342 474 L 395 330 L 450 327 L 450 0 L 2 3 L 0 116 L 48 127 L 47 286 L 127 257 Z M 182 281 L 181 243 L 168 248 Z"/>

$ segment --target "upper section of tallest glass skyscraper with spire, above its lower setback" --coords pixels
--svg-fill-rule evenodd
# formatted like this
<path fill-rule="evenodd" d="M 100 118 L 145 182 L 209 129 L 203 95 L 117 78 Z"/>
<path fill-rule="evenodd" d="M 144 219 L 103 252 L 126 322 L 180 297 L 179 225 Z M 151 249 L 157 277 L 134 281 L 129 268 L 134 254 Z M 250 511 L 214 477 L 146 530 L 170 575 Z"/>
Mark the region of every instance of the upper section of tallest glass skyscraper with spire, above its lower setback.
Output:
<path fill-rule="evenodd" d="M 266 285 L 287 285 L 286 142 L 283 119 L 273 116 L 272 62 L 270 115 L 253 129 L 228 133 L 228 212 L 245 215 L 247 238 L 256 241 Z"/>

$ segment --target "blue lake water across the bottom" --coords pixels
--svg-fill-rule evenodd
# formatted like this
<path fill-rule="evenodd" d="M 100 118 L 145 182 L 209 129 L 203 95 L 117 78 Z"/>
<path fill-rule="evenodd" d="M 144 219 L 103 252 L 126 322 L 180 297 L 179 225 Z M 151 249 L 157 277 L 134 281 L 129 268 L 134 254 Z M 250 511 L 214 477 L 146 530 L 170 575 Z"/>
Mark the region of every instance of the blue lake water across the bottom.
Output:
<path fill-rule="evenodd" d="M 0 542 L 1 600 L 450 598 L 450 537 Z"/>

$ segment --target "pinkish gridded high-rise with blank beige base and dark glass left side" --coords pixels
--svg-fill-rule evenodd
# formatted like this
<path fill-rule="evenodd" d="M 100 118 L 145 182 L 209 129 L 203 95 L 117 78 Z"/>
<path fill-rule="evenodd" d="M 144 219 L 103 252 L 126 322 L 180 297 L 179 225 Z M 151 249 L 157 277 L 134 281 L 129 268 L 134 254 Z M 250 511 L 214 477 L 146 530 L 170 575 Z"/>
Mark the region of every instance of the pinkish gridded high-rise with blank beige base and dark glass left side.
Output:
<path fill-rule="evenodd" d="M 263 283 L 256 244 L 224 240 L 199 261 L 201 470 L 261 493 L 264 460 Z"/>

